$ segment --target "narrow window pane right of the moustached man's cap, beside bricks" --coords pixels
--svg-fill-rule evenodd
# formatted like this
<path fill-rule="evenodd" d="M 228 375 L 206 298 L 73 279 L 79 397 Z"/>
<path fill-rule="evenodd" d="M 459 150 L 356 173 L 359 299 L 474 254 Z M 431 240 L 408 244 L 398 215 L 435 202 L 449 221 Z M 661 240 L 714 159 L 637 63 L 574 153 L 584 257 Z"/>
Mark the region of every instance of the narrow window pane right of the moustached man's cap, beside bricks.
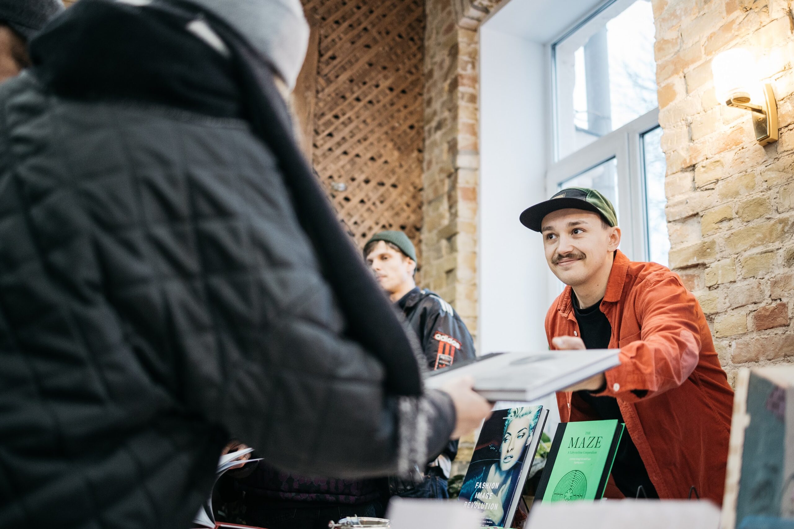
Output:
<path fill-rule="evenodd" d="M 665 216 L 665 153 L 661 151 L 661 127 L 642 136 L 645 163 L 646 214 L 648 216 L 648 247 L 650 260 L 668 266 L 670 240 Z"/>

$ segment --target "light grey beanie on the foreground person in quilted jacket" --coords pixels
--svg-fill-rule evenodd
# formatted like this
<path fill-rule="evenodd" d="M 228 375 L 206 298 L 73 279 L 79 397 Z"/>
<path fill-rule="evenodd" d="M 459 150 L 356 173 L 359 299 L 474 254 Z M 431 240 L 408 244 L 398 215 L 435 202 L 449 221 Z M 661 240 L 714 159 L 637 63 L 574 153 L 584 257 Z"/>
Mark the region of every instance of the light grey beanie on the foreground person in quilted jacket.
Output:
<path fill-rule="evenodd" d="M 190 1 L 237 29 L 281 79 L 290 88 L 295 87 L 309 45 L 309 25 L 300 0 Z"/>

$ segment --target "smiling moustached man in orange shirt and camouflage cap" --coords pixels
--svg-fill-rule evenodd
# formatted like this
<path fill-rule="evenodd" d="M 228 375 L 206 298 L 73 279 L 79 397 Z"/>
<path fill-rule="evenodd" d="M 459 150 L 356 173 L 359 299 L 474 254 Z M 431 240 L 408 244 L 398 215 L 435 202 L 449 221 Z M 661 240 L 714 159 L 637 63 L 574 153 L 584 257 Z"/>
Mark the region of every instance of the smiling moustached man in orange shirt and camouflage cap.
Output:
<path fill-rule="evenodd" d="M 685 498 L 694 486 L 721 504 L 733 391 L 696 298 L 665 266 L 618 250 L 615 209 L 596 190 L 561 190 L 521 222 L 567 285 L 545 318 L 549 346 L 620 349 L 620 366 L 557 393 L 563 422 L 626 424 L 607 496 Z"/>

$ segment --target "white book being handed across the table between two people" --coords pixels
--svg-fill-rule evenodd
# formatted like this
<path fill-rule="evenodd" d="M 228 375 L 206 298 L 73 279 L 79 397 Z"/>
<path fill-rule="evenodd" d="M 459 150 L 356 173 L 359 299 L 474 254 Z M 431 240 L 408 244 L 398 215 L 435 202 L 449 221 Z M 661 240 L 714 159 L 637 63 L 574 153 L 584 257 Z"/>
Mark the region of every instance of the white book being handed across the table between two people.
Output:
<path fill-rule="evenodd" d="M 469 375 L 489 401 L 534 401 L 620 365 L 619 349 L 491 353 L 431 371 L 425 385 L 438 389 Z"/>

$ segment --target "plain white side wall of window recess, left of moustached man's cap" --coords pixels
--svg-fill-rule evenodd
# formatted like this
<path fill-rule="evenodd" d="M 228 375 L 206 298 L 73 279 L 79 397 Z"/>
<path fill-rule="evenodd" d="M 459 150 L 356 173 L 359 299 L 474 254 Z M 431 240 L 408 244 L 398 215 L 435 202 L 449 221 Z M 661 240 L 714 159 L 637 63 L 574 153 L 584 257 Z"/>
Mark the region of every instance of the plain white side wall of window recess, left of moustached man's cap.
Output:
<path fill-rule="evenodd" d="M 545 349 L 542 240 L 518 215 L 545 200 L 543 44 L 480 29 L 480 353 Z"/>

